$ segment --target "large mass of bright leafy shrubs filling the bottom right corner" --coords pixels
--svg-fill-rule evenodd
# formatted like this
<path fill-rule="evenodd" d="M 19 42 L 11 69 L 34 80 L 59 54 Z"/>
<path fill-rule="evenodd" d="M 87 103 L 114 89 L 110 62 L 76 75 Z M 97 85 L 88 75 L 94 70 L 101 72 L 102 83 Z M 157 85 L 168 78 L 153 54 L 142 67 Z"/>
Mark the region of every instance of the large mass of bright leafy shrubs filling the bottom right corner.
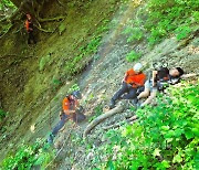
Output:
<path fill-rule="evenodd" d="M 199 85 L 170 89 L 158 106 L 138 109 L 138 121 L 106 134 L 101 169 L 198 169 Z M 102 163 L 102 162 L 101 162 Z"/>

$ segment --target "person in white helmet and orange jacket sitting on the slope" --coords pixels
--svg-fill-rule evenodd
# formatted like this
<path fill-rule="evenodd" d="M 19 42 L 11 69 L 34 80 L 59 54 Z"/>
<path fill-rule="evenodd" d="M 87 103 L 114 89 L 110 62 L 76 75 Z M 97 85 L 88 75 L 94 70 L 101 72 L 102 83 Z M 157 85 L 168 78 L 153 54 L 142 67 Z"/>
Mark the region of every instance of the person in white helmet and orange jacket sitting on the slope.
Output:
<path fill-rule="evenodd" d="M 126 72 L 122 88 L 111 99 L 109 108 L 115 107 L 117 99 L 134 99 L 139 87 L 144 86 L 146 75 L 142 72 L 143 65 L 136 63 L 134 68 Z"/>

